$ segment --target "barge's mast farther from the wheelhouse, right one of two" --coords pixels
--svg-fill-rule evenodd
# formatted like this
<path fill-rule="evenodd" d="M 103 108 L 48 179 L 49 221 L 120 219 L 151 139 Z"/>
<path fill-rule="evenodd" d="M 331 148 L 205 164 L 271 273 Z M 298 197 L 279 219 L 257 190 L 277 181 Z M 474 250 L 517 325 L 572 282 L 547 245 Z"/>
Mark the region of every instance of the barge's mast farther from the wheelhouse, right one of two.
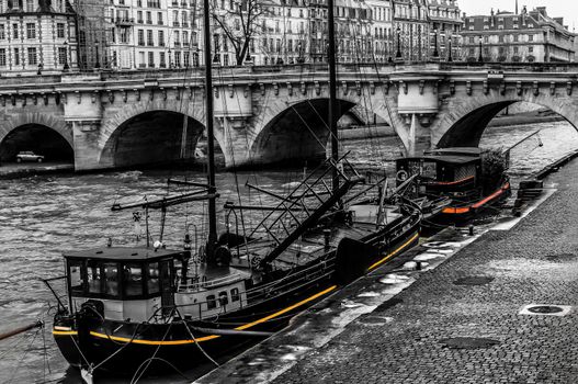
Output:
<path fill-rule="evenodd" d="M 327 0 L 327 18 L 328 18 L 328 33 L 329 46 L 327 49 L 329 61 L 329 131 L 331 132 L 331 159 L 336 162 L 339 160 L 339 142 L 337 132 L 337 75 L 336 75 L 336 20 L 333 14 L 333 0 Z M 337 167 L 332 169 L 332 187 L 333 193 L 339 191 L 339 171 Z"/>

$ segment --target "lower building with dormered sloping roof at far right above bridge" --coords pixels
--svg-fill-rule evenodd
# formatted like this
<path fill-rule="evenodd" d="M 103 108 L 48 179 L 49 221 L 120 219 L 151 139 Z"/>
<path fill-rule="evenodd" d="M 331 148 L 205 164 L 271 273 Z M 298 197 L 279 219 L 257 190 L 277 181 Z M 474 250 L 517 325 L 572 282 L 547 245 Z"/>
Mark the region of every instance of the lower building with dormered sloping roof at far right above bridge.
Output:
<path fill-rule="evenodd" d="M 462 58 L 484 61 L 575 61 L 575 34 L 545 7 L 465 18 Z"/>

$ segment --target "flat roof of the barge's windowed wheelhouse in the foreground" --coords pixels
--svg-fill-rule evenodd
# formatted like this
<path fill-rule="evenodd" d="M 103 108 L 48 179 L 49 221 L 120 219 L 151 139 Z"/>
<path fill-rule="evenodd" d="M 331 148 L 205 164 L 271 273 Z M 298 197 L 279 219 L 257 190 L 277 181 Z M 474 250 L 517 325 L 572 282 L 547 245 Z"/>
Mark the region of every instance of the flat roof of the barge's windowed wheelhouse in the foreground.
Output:
<path fill-rule="evenodd" d="M 157 249 L 155 248 L 136 248 L 136 247 L 101 247 L 87 250 L 70 250 L 63 252 L 65 258 L 79 259 L 100 259 L 115 261 L 138 261 L 160 259 L 165 257 L 181 257 L 184 251 Z"/>

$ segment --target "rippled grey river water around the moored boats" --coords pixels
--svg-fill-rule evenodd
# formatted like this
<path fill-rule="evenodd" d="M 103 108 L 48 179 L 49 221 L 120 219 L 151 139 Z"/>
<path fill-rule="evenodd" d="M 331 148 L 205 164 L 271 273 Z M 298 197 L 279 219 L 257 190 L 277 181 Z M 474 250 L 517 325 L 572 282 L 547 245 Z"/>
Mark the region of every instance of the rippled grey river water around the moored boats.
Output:
<path fill-rule="evenodd" d="M 514 127 L 488 128 L 481 146 L 509 148 L 536 129 L 540 136 L 518 145 L 511 151 L 510 173 L 514 181 L 535 172 L 578 149 L 578 134 L 569 124 L 544 123 Z M 539 144 L 542 142 L 543 146 Z M 393 159 L 401 153 L 396 137 L 350 140 L 343 144 L 351 159 L 363 167 L 384 166 L 393 176 Z M 45 331 L 30 331 L 0 341 L 0 383 L 78 383 L 78 374 L 60 357 L 49 332 L 54 298 L 39 278 L 63 273 L 61 251 L 102 246 L 110 237 L 115 245 L 136 240 L 133 212 L 111 212 L 115 202 L 149 200 L 167 192 L 169 171 L 103 172 L 82 176 L 44 176 L 19 180 L 0 180 L 0 332 L 34 321 L 46 320 Z M 299 180 L 303 170 L 260 172 L 220 172 L 217 184 L 227 200 L 267 203 L 242 185 L 246 181 L 280 193 L 286 183 Z M 173 177 L 203 180 L 203 173 L 172 172 Z M 237 190 L 236 185 L 240 185 Z M 239 194 L 238 194 L 239 193 Z M 222 204 L 219 204 L 222 205 Z M 184 214 L 183 210 L 184 208 Z M 185 227 L 199 231 L 206 207 L 196 203 L 180 207 L 179 215 L 167 219 L 165 241 L 169 248 L 182 247 Z M 223 214 L 219 214 L 223 217 Z M 158 238 L 158 215 L 151 215 L 151 235 Z M 253 216 L 249 219 L 258 219 Z M 189 373 L 188 373 L 189 374 Z M 189 375 L 194 375 L 191 373 Z M 106 380 L 106 382 L 110 382 Z M 128 382 L 123 380 L 117 383 Z M 149 379 L 141 382 L 185 382 L 179 376 Z"/>

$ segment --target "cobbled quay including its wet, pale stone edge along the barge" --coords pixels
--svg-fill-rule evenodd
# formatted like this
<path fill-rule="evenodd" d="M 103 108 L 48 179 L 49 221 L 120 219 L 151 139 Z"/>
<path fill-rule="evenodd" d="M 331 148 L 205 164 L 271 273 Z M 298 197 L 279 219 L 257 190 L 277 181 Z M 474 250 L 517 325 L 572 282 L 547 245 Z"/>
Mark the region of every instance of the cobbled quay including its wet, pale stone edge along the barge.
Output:
<path fill-rule="evenodd" d="M 424 271 L 388 266 L 197 382 L 578 383 L 578 161 L 545 183 L 556 192 L 515 225 Z M 347 303 L 363 309 L 336 317 Z"/>

